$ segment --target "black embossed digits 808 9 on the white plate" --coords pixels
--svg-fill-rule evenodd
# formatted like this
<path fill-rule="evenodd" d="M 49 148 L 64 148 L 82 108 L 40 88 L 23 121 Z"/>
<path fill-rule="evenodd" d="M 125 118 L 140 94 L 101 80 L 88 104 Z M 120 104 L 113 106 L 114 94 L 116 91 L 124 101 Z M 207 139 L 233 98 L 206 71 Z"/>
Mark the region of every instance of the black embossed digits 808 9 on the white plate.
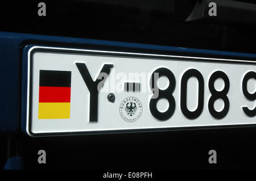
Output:
<path fill-rule="evenodd" d="M 166 76 L 168 78 L 170 85 L 167 87 L 167 89 L 160 90 L 157 87 L 157 85 L 154 81 L 155 73 L 158 74 L 159 77 Z M 195 77 L 197 79 L 197 81 L 199 82 L 198 102 L 197 102 L 197 108 L 195 111 L 189 111 L 187 108 L 187 82 L 188 82 L 188 79 L 191 77 Z M 216 79 L 218 79 L 218 78 L 223 79 L 223 81 L 225 83 L 224 89 L 221 91 L 217 91 L 214 88 L 214 81 L 216 81 Z M 256 79 L 255 71 L 249 71 L 243 77 L 242 91 L 243 91 L 243 95 L 245 95 L 245 98 L 247 98 L 249 100 L 255 100 L 256 92 L 251 94 L 247 90 L 247 82 L 251 78 Z M 160 121 L 168 120 L 174 114 L 175 99 L 174 99 L 174 96 L 172 95 L 172 93 L 174 92 L 175 85 L 176 85 L 175 76 L 172 73 L 172 71 L 167 68 L 156 69 L 150 77 L 150 88 L 151 88 L 152 92 L 154 93 L 155 90 L 158 90 L 158 92 L 159 92 L 158 98 L 152 97 L 150 99 L 150 112 L 156 119 L 158 119 Z M 203 78 L 203 75 L 200 73 L 200 71 L 198 71 L 196 69 L 189 69 L 189 70 L 185 71 L 185 73 L 182 75 L 182 78 L 181 78 L 181 87 L 180 88 L 181 88 L 180 89 L 180 91 L 181 91 L 180 92 L 181 112 L 188 119 L 196 119 L 197 117 L 199 117 L 201 115 L 201 112 L 203 111 L 203 107 L 204 107 L 204 78 Z M 210 115 L 212 115 L 215 119 L 222 119 L 229 112 L 229 99 L 227 96 L 228 91 L 229 91 L 228 75 L 226 75 L 223 71 L 220 71 L 220 70 L 214 71 L 214 73 L 212 73 L 212 75 L 210 75 L 209 82 L 208 82 L 208 88 L 211 93 L 210 99 L 208 102 L 208 110 L 210 112 Z M 158 102 L 159 99 L 162 99 L 162 98 L 167 99 L 167 101 L 169 103 L 169 107 L 165 112 L 160 112 L 156 108 L 156 103 Z M 219 112 L 216 111 L 213 106 L 214 102 L 217 99 L 222 99 L 224 102 L 224 108 Z M 253 117 L 256 115 L 256 107 L 253 110 L 250 110 L 248 107 L 242 107 L 242 110 L 247 116 Z"/>

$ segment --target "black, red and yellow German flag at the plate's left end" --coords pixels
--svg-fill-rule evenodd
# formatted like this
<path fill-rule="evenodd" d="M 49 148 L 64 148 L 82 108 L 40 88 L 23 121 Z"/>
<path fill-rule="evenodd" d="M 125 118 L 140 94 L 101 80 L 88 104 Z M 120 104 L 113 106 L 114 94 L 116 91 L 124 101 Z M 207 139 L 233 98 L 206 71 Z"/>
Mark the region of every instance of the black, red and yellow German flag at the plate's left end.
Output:
<path fill-rule="evenodd" d="M 69 119 L 71 71 L 40 70 L 38 119 Z"/>

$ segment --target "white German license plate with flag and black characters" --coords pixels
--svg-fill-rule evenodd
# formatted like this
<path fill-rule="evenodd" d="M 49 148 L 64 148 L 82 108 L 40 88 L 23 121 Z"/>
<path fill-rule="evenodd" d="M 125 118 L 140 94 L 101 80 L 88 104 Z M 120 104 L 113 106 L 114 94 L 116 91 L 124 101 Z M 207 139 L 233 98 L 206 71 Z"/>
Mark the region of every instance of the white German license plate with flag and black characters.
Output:
<path fill-rule="evenodd" d="M 30 136 L 255 124 L 255 62 L 28 50 Z"/>

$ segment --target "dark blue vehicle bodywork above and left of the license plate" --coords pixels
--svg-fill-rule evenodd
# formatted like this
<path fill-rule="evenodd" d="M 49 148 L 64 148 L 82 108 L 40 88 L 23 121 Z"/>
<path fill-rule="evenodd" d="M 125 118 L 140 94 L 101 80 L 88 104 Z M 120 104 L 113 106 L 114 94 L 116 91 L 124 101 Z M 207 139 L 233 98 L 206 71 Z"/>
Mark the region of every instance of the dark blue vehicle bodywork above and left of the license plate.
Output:
<path fill-rule="evenodd" d="M 26 117 L 27 60 L 26 54 L 23 52 L 26 52 L 31 45 L 126 50 L 126 52 L 140 53 L 189 54 L 191 56 L 229 57 L 240 60 L 255 60 L 256 58 L 256 54 L 250 53 L 0 32 L 0 134 L 17 133 L 24 125 L 21 120 Z"/>

